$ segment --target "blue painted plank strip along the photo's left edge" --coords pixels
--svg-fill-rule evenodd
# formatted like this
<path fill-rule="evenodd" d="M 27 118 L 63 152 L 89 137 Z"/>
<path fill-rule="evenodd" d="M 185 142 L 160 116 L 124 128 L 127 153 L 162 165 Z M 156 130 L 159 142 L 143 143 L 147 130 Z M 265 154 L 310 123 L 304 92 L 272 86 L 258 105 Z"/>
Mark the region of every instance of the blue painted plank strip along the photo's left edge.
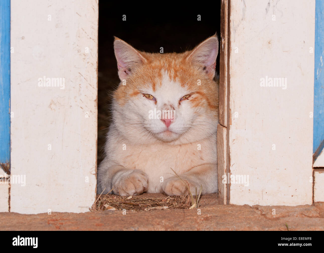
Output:
<path fill-rule="evenodd" d="M 10 162 L 10 0 L 0 0 L 0 163 Z"/>

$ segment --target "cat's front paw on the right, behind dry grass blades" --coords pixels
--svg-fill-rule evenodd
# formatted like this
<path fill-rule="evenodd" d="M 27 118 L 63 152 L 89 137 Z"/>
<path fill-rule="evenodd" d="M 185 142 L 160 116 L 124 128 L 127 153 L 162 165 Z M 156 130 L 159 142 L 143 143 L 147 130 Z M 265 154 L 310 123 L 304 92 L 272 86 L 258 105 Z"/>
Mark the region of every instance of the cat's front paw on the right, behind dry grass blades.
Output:
<path fill-rule="evenodd" d="M 168 178 L 163 184 L 162 189 L 169 196 L 172 195 L 185 196 L 189 194 L 188 187 L 192 195 L 196 194 L 196 188 L 197 188 L 197 192 L 199 192 L 198 183 L 193 182 L 190 179 L 186 179 L 186 178 L 179 179 L 178 177 Z"/>

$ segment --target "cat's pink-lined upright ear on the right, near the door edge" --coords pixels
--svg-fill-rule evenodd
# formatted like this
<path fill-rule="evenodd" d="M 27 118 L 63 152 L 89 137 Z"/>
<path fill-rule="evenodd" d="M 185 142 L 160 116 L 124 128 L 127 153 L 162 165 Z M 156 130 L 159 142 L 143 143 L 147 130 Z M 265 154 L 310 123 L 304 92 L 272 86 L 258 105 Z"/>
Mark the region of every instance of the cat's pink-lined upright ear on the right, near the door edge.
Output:
<path fill-rule="evenodd" d="M 203 68 L 210 79 L 215 76 L 216 58 L 218 55 L 218 38 L 216 35 L 209 37 L 195 47 L 187 60 Z"/>

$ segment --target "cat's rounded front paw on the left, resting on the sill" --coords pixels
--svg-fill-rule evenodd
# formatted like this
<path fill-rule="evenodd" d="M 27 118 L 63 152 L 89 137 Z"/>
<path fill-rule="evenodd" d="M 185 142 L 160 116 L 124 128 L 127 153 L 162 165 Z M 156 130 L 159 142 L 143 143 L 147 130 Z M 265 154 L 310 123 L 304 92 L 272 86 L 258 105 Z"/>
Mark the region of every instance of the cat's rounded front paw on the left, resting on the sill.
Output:
<path fill-rule="evenodd" d="M 112 191 L 121 196 L 135 196 L 147 190 L 148 177 L 141 170 L 122 170 L 112 180 Z"/>

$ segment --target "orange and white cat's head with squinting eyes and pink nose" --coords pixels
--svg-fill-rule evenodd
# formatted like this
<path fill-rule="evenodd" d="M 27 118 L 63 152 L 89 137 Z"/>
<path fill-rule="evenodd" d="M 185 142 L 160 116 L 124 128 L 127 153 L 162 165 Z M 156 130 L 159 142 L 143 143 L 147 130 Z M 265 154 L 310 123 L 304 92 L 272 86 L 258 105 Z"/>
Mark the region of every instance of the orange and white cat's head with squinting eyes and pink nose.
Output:
<path fill-rule="evenodd" d="M 121 79 L 113 96 L 113 126 L 140 144 L 191 143 L 216 132 L 218 39 L 184 53 L 140 52 L 115 38 Z"/>

